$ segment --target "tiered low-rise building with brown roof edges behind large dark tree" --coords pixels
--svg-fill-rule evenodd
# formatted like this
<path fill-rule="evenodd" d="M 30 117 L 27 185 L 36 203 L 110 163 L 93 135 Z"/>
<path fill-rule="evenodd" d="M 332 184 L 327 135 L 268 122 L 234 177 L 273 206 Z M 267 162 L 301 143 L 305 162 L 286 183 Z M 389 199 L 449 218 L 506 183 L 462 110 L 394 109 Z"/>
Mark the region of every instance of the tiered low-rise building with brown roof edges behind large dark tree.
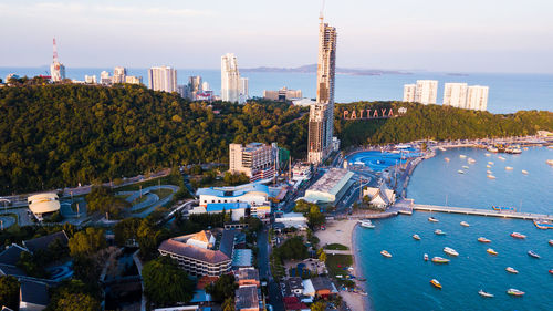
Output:
<path fill-rule="evenodd" d="M 211 231 L 170 238 L 161 242 L 163 256 L 176 259 L 179 267 L 192 276 L 221 276 L 231 270 L 234 251 L 234 230 L 223 230 L 219 247 Z"/>

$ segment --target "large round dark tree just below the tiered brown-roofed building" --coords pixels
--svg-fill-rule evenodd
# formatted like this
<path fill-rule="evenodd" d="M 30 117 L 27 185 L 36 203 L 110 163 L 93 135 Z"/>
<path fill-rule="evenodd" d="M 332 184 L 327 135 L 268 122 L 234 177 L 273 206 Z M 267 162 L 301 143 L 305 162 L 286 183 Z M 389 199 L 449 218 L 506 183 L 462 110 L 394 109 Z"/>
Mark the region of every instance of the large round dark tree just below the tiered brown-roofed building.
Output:
<path fill-rule="evenodd" d="M 192 299 L 195 282 L 170 257 L 160 256 L 147 262 L 144 265 L 142 276 L 144 292 L 156 305 L 187 303 Z"/>

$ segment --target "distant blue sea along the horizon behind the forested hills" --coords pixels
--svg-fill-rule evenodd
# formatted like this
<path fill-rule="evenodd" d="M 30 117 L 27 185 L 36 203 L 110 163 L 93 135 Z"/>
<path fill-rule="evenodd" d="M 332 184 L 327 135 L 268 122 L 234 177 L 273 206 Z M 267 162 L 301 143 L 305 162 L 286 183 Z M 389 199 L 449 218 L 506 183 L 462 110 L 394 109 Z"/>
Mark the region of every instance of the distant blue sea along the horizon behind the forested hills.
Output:
<path fill-rule="evenodd" d="M 66 76 L 84 80 L 84 75 L 95 74 L 100 79 L 102 71 L 113 72 L 113 68 L 71 68 L 66 66 Z M 20 76 L 48 75 L 49 68 L 0 68 L 0 77 L 15 73 Z M 147 69 L 127 69 L 127 74 L 143 76 L 148 83 Z M 191 75 L 200 75 L 210 84 L 215 93 L 220 93 L 221 75 L 219 70 L 177 69 L 178 84 L 185 84 Z M 249 80 L 249 95 L 263 96 L 263 90 L 279 90 L 286 86 L 302 90 L 304 97 L 313 99 L 316 94 L 315 73 L 285 72 L 241 72 Z M 337 103 L 356 101 L 400 101 L 404 84 L 417 80 L 438 80 L 438 103 L 444 96 L 444 83 L 466 82 L 469 85 L 488 85 L 488 111 L 491 113 L 513 113 L 520 110 L 553 110 L 553 74 L 513 74 L 513 73 L 444 73 L 416 71 L 406 74 L 351 75 L 337 74 L 335 100 Z"/>

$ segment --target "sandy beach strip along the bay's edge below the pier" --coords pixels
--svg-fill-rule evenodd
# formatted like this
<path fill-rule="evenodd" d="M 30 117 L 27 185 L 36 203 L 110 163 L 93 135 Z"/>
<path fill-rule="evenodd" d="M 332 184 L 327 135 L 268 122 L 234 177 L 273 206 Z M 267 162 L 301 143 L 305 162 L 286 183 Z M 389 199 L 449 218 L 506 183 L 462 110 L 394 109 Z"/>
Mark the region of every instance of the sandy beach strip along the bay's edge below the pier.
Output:
<path fill-rule="evenodd" d="M 326 230 L 319 230 L 315 235 L 320 239 L 319 245 L 324 247 L 331 243 L 341 243 L 349 248 L 348 251 L 336 251 L 336 250 L 325 250 L 326 253 L 348 253 L 353 256 L 353 274 L 356 277 L 361 276 L 361 270 L 357 265 L 357 256 L 355 253 L 355 228 L 357 226 L 357 220 L 332 220 L 326 222 Z M 358 287 L 364 287 L 363 283 L 356 282 Z M 340 294 L 347 303 L 347 305 L 354 310 L 373 310 L 365 299 L 356 292 L 340 291 Z"/>

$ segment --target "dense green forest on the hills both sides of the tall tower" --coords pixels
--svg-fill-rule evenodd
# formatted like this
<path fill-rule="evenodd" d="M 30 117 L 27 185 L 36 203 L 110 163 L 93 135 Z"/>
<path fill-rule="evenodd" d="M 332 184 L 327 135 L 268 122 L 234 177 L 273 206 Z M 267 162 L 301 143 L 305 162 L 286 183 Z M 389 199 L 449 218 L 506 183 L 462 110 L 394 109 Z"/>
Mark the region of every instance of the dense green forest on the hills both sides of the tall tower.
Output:
<path fill-rule="evenodd" d="M 343 111 L 406 107 L 401 117 L 345 121 Z M 227 163 L 229 143 L 278 142 L 305 158 L 307 108 L 251 101 L 190 103 L 138 85 L 0 89 L 0 195 L 107 182 L 158 168 Z M 494 115 L 439 105 L 358 102 L 335 106 L 342 147 L 420 138 L 553 131 L 553 113 Z"/>

